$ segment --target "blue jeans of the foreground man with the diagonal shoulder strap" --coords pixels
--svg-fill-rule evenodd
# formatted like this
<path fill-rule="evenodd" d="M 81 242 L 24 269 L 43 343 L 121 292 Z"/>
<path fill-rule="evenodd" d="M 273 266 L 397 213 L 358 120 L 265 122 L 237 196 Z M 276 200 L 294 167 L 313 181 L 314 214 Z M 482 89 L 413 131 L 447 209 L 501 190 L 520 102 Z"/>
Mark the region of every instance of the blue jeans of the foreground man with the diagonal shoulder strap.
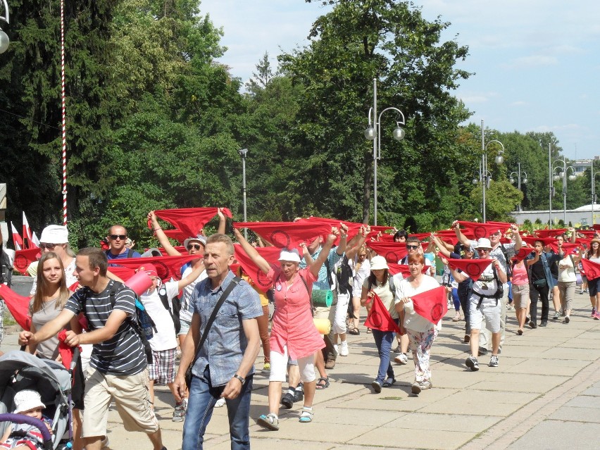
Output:
<path fill-rule="evenodd" d="M 250 394 L 253 375 L 246 377 L 237 399 L 226 400 L 229 418 L 229 433 L 232 450 L 250 449 Z M 211 385 L 208 365 L 204 369 L 204 379 L 192 375 L 189 387 L 187 412 L 183 424 L 182 450 L 201 450 L 206 426 L 213 416 L 213 408 L 225 386 Z"/>

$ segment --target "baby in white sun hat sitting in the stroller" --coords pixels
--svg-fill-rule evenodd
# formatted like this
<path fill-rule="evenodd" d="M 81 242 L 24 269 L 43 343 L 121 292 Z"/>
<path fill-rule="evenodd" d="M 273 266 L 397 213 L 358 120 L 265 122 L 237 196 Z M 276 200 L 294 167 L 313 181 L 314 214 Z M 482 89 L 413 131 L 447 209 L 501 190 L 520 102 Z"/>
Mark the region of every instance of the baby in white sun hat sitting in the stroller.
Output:
<path fill-rule="evenodd" d="M 41 420 L 49 432 L 52 432 L 52 421 L 42 410 L 46 405 L 42 397 L 32 389 L 23 389 L 15 394 L 15 414 L 25 415 Z M 37 424 L 39 425 L 39 423 Z M 0 449 L 41 450 L 44 445 L 42 430 L 31 423 L 11 423 L 0 439 Z"/>

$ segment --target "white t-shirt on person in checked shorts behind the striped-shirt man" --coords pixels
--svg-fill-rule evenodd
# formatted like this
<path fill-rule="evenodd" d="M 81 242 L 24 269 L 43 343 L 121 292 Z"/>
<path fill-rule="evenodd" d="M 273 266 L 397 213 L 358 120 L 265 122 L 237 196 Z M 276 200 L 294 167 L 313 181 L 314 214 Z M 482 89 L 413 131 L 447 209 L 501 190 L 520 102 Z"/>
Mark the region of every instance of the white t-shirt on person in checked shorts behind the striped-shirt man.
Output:
<path fill-rule="evenodd" d="M 179 292 L 179 287 L 176 281 L 170 281 L 165 283 L 165 289 L 167 291 L 167 298 L 173 299 Z M 154 351 L 163 351 L 175 349 L 177 347 L 177 338 L 175 337 L 175 325 L 173 325 L 173 319 L 170 316 L 169 311 L 163 305 L 161 297 L 158 296 L 158 289 L 154 289 L 151 294 L 147 291 L 139 296 L 140 301 L 146 308 L 146 312 L 149 313 L 154 325 L 156 325 L 157 332 L 154 336 L 149 339 L 150 346 Z"/>

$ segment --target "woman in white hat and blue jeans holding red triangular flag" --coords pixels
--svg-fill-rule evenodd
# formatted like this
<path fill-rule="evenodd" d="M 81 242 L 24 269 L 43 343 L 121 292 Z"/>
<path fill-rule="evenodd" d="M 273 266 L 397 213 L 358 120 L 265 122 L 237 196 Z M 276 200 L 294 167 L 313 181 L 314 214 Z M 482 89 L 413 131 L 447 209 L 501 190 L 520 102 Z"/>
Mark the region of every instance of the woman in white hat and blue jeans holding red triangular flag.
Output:
<path fill-rule="evenodd" d="M 399 275 L 401 277 L 401 275 Z M 384 308 L 387 309 L 396 325 L 398 324 L 398 313 L 394 307 L 395 288 L 389 267 L 383 256 L 373 256 L 371 259 L 371 273 L 363 282 L 361 305 L 370 309 L 375 294 L 381 299 Z M 389 352 L 392 351 L 392 343 L 396 333 L 393 331 L 382 331 L 373 328 L 373 338 L 379 352 L 379 369 L 377 378 L 371 383 L 373 390 L 378 394 L 382 387 L 391 387 L 396 382 L 394 369 L 389 361 Z M 387 378 L 386 378 L 387 375 Z"/>

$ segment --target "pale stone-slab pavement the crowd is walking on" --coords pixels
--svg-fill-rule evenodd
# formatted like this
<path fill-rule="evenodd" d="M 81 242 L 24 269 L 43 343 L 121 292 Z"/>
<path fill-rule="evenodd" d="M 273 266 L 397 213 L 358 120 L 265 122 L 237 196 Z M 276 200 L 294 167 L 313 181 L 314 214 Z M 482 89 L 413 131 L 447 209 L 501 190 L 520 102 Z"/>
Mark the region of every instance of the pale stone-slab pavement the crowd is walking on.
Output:
<path fill-rule="evenodd" d="M 372 449 L 596 449 L 600 433 L 600 321 L 589 318 L 589 297 L 575 294 L 569 324 L 549 320 L 548 327 L 516 335 L 509 312 L 506 343 L 498 368 L 488 356 L 480 370 L 465 368 L 468 345 L 464 322 L 444 318 L 432 347 L 434 389 L 412 396 L 413 362 L 394 365 L 396 385 L 374 394 L 370 383 L 378 358 L 373 336 L 361 328 L 350 336 L 350 355 L 338 357 L 329 371 L 331 386 L 315 396 L 313 423 L 298 422 L 301 405 L 280 411 L 280 430 L 265 431 L 256 418 L 268 412 L 267 375 L 255 375 L 251 406 L 251 439 L 261 450 Z M 16 346 L 8 335 L 1 349 Z M 393 358 L 394 354 L 392 354 Z M 259 356 L 256 368 L 262 368 Z M 173 399 L 159 387 L 156 412 L 163 442 L 181 447 L 181 423 L 173 423 Z M 111 449 L 151 449 L 142 433 L 125 432 L 118 414 L 109 415 Z M 227 410 L 215 409 L 206 449 L 230 449 Z"/>

